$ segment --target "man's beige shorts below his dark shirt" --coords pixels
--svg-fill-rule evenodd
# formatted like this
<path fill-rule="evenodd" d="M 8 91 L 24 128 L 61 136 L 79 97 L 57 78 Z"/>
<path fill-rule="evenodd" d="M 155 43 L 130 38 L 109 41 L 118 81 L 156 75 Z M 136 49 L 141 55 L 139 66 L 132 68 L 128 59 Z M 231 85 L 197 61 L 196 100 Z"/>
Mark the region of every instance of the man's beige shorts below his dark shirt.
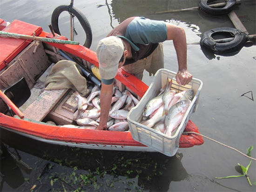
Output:
<path fill-rule="evenodd" d="M 152 74 L 155 75 L 159 69 L 164 68 L 163 43 L 159 43 L 155 51 L 147 58 L 137 60 L 135 63 L 122 66 L 122 68 L 127 73 L 131 73 L 139 79 L 142 79 L 144 69 L 146 69 L 150 76 Z"/>

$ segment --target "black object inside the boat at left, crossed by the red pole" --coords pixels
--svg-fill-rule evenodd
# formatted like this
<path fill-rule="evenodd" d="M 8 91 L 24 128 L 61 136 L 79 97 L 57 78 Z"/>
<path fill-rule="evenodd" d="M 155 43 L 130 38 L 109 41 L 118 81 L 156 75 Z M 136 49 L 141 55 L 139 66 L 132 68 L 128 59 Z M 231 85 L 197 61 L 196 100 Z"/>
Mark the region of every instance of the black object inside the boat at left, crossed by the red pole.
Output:
<path fill-rule="evenodd" d="M 13 83 L 13 85 L 1 89 L 1 91 L 7 95 L 7 97 L 11 99 L 14 105 L 18 108 L 22 106 L 31 95 L 30 88 L 24 77 Z M 8 110 L 12 115 L 15 114 L 9 106 Z"/>

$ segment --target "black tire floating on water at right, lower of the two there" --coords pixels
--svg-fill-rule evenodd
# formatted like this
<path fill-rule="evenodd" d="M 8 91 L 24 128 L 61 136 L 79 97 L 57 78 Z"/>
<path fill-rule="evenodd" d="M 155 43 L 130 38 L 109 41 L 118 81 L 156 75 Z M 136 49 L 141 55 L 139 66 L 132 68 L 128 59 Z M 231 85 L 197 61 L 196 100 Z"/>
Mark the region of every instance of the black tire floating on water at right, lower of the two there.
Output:
<path fill-rule="evenodd" d="M 221 36 L 226 39 L 217 40 Z M 201 46 L 206 46 L 216 54 L 239 52 L 248 40 L 248 35 L 236 28 L 219 27 L 202 35 Z"/>

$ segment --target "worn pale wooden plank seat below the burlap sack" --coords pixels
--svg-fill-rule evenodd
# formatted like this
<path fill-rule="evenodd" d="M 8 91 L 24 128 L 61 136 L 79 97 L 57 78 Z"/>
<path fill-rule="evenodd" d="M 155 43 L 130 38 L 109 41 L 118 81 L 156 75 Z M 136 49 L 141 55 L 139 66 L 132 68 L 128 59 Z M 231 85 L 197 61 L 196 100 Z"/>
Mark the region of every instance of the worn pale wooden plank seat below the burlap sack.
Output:
<path fill-rule="evenodd" d="M 68 89 L 44 90 L 23 112 L 27 119 L 43 120 Z"/>

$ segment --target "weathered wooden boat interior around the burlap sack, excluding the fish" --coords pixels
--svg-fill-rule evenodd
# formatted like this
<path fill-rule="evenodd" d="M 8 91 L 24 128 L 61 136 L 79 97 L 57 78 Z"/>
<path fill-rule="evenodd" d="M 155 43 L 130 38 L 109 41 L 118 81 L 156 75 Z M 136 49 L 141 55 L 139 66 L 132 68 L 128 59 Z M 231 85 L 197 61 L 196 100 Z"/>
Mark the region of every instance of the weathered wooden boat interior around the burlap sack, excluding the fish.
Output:
<path fill-rule="evenodd" d="M 74 58 L 71 54 L 68 56 Z M 77 125 L 73 120 L 77 110 L 74 90 L 45 90 L 47 75 L 60 60 L 67 59 L 59 54 L 57 48 L 33 41 L 1 71 L 0 88 L 19 107 L 25 119 L 56 125 Z M 90 70 L 92 64 L 77 57 L 76 60 L 93 75 Z M 87 78 L 87 86 L 91 90 L 95 84 Z M 15 115 L 2 100 L 0 109 L 1 113 Z"/>

